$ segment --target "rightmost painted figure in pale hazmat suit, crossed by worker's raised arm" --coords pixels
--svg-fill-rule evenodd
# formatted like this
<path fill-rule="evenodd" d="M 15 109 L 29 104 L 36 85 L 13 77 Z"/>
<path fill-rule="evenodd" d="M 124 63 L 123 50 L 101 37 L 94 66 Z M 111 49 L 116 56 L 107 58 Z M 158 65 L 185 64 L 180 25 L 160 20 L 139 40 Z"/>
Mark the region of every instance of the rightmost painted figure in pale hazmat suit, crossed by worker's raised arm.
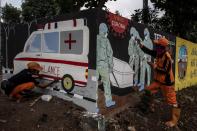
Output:
<path fill-rule="evenodd" d="M 153 49 L 153 43 L 152 40 L 150 39 L 150 33 L 147 28 L 144 29 L 144 41 L 143 41 L 144 46 L 146 46 L 148 49 L 152 50 Z M 150 79 L 151 79 L 151 67 L 147 62 L 151 61 L 151 56 L 143 53 L 141 57 L 141 71 L 140 71 L 140 90 L 144 89 L 145 85 L 145 74 L 147 71 L 147 85 L 150 85 Z"/>

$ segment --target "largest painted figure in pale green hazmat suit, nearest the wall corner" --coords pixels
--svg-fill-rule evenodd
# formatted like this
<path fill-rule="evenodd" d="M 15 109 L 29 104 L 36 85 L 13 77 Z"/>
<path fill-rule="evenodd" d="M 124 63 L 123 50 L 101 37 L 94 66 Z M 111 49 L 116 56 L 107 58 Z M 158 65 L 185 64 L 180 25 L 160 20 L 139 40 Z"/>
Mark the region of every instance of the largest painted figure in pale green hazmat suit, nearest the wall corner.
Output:
<path fill-rule="evenodd" d="M 113 50 L 107 38 L 108 28 L 105 23 L 99 26 L 99 34 L 97 35 L 97 75 L 101 76 L 104 86 L 105 105 L 111 107 L 115 105 L 112 101 L 110 87 L 110 72 L 113 69 Z"/>

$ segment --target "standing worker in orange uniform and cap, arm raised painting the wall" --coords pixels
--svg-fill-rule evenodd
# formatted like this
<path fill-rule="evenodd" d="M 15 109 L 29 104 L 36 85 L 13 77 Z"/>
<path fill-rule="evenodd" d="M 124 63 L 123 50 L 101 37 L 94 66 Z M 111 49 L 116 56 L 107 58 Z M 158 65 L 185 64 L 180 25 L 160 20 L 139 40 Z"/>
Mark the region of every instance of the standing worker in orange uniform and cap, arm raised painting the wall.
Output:
<path fill-rule="evenodd" d="M 147 106 L 147 109 L 154 110 L 153 94 L 158 89 L 162 91 L 163 96 L 167 104 L 171 105 L 172 119 L 165 124 L 168 127 L 177 125 L 180 117 L 180 108 L 178 107 L 176 100 L 176 93 L 174 89 L 174 75 L 172 71 L 172 58 L 167 51 L 169 41 L 166 38 L 160 38 L 155 40 L 156 50 L 150 50 L 137 40 L 140 48 L 147 54 L 153 56 L 156 61 L 155 63 L 148 62 L 154 69 L 154 81 L 145 88 L 144 96 L 142 97 L 142 103 Z"/>

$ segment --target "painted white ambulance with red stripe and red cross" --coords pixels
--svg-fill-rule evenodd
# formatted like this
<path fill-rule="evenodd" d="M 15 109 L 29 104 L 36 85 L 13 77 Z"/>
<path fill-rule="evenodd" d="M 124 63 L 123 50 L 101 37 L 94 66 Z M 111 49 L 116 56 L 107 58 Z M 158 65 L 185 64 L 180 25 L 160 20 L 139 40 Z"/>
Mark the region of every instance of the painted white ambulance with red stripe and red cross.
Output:
<path fill-rule="evenodd" d="M 84 19 L 47 23 L 31 34 L 23 52 L 14 59 L 14 74 L 35 61 L 41 75 L 62 80 L 67 92 L 74 86 L 86 87 L 88 77 L 89 28 Z"/>

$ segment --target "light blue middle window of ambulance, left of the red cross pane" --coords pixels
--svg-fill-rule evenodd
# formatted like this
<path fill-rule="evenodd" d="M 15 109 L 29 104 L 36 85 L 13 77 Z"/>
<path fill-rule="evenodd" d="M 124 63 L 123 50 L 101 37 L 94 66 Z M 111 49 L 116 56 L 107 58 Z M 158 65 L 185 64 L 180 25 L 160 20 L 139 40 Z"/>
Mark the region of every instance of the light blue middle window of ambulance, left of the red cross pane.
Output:
<path fill-rule="evenodd" d="M 43 52 L 57 53 L 59 49 L 59 32 L 44 33 Z"/>

